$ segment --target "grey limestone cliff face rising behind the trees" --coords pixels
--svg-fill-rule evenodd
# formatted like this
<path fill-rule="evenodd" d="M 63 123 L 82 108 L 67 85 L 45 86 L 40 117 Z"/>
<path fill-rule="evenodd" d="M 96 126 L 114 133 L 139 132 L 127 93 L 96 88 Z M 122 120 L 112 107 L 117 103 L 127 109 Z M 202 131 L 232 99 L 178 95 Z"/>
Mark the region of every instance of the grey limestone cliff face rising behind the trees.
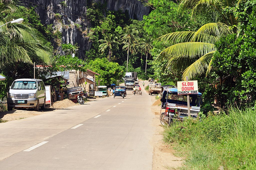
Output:
<path fill-rule="evenodd" d="M 143 6 L 139 0 L 93 0 L 89 2 L 106 3 L 108 10 L 128 10 L 132 19 L 143 19 L 150 13 L 150 7 Z M 51 25 L 54 33 L 59 36 L 54 47 L 60 49 L 63 43 L 77 44 L 80 48 L 78 56 L 84 57 L 85 51 L 91 47 L 87 33 L 90 23 L 86 19 L 87 0 L 25 0 L 27 6 L 36 6 L 41 22 Z"/>

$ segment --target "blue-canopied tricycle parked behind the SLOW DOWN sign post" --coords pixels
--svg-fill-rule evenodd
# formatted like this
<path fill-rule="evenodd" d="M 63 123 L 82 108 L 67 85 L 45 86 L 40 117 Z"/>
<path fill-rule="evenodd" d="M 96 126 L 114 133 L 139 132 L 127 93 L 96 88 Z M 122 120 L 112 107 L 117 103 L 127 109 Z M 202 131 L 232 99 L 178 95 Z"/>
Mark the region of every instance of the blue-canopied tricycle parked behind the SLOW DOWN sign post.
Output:
<path fill-rule="evenodd" d="M 200 111 L 202 93 L 189 94 L 190 117 L 197 118 Z M 178 95 L 177 88 L 166 88 L 161 97 L 160 122 L 162 125 L 170 125 L 173 120 L 183 120 L 188 117 L 187 94 Z"/>

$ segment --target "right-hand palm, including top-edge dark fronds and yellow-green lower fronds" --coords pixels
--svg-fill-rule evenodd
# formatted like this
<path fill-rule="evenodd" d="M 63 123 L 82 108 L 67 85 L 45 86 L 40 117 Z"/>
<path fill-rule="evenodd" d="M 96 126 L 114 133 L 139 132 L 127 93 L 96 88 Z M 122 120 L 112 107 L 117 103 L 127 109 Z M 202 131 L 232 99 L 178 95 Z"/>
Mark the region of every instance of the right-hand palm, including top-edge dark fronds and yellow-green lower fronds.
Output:
<path fill-rule="evenodd" d="M 181 1 L 179 7 L 183 12 L 190 8 L 191 18 L 199 14 L 209 23 L 197 31 L 180 31 L 158 38 L 163 43 L 169 44 L 169 47 L 163 50 L 158 58 L 169 59 L 166 71 L 183 71 L 183 79 L 186 76 L 191 79 L 196 75 L 207 75 L 211 69 L 212 55 L 216 51 L 215 42 L 237 29 L 237 18 L 234 17 L 232 9 L 241 1 L 244 0 L 239 0 L 238 3 L 235 0 Z"/>

